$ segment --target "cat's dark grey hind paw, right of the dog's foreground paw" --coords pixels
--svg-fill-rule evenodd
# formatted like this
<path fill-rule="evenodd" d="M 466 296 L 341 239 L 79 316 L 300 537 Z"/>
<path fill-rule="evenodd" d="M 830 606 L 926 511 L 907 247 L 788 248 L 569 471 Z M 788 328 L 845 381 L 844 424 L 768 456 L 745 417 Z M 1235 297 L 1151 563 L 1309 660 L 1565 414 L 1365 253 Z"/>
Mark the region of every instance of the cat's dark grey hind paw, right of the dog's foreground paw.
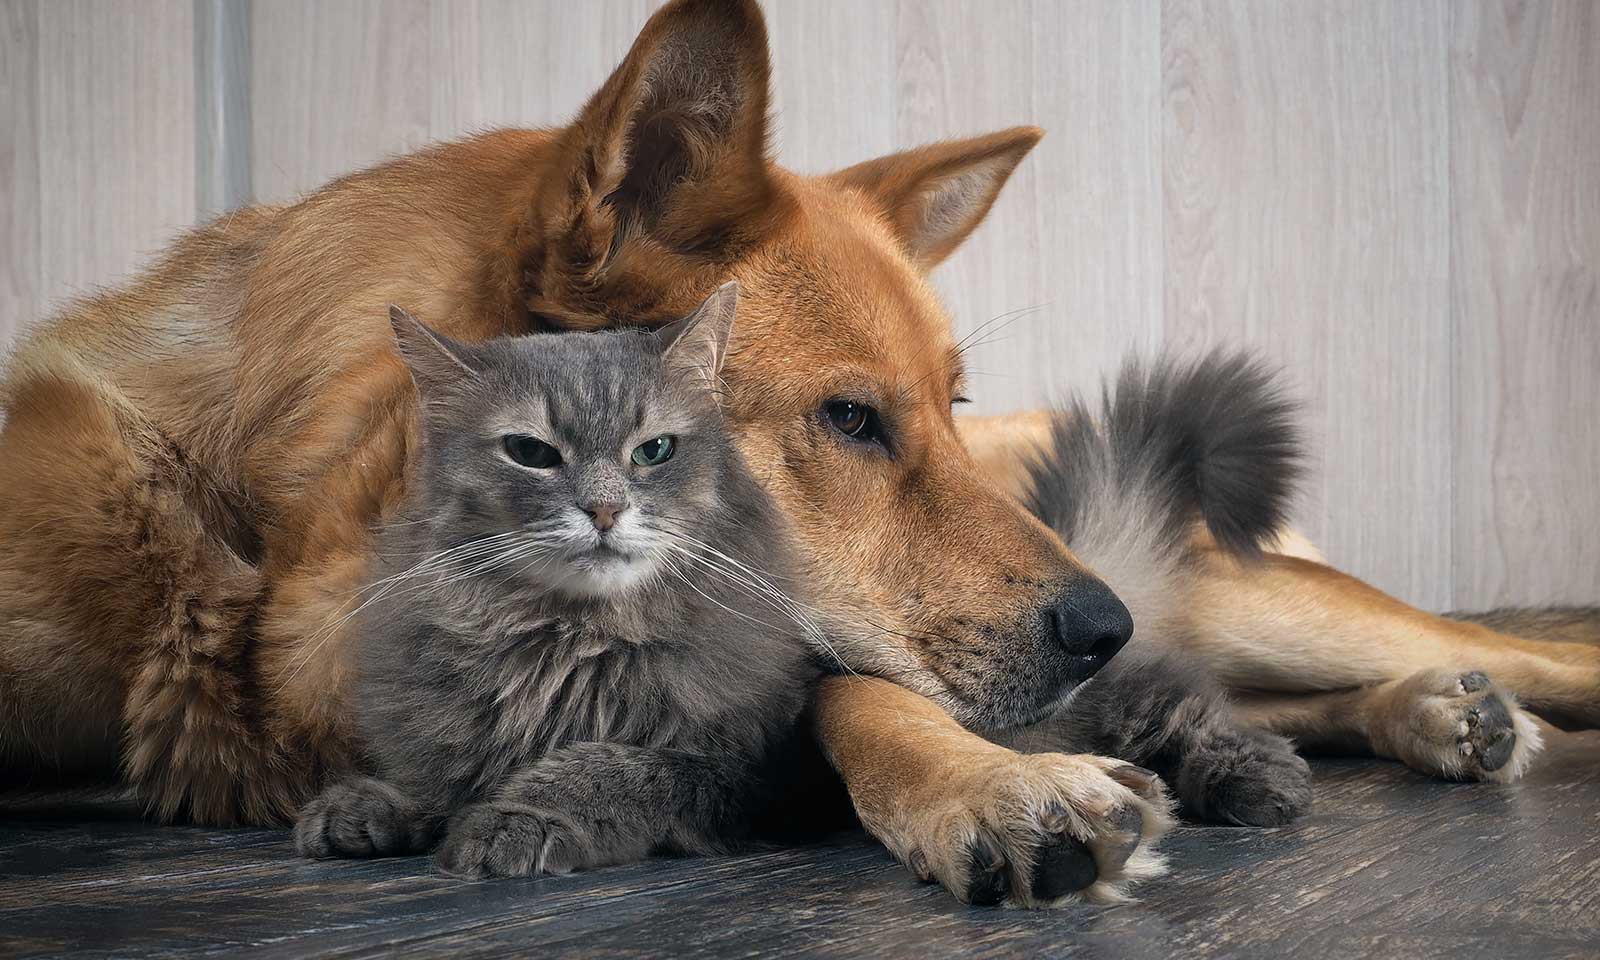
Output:
<path fill-rule="evenodd" d="M 1192 749 L 1174 784 L 1184 813 L 1240 827 L 1280 827 L 1310 810 L 1310 765 L 1270 733 L 1227 731 Z"/>

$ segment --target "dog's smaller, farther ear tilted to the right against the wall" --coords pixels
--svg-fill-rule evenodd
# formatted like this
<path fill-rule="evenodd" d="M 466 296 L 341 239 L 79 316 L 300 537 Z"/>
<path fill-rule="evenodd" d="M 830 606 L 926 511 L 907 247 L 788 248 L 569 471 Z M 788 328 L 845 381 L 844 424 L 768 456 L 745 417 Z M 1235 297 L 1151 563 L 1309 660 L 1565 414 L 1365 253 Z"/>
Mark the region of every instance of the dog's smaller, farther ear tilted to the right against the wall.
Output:
<path fill-rule="evenodd" d="M 872 197 L 910 258 L 928 270 L 982 222 L 1000 187 L 1042 136 L 1037 126 L 1013 126 L 867 160 L 830 179 Z"/>

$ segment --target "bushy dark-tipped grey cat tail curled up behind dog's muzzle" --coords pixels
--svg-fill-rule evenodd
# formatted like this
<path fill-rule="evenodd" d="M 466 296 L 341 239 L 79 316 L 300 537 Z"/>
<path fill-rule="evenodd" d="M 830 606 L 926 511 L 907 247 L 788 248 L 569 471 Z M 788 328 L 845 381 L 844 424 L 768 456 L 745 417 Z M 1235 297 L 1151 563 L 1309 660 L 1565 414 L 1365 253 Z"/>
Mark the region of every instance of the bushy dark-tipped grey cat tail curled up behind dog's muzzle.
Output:
<path fill-rule="evenodd" d="M 1294 413 L 1248 354 L 1131 358 L 1099 411 L 1078 398 L 1056 414 L 1027 506 L 1117 590 L 1160 573 L 1131 566 L 1176 562 L 1197 522 L 1222 550 L 1256 555 L 1301 472 Z"/>

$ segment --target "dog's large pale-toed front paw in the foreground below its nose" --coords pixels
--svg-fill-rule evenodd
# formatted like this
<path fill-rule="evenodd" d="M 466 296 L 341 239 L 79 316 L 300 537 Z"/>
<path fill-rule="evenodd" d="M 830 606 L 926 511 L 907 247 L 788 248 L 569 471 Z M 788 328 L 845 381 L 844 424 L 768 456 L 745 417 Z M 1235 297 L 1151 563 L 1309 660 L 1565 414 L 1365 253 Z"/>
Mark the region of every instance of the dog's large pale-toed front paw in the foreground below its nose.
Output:
<path fill-rule="evenodd" d="M 1171 826 L 1160 779 L 1120 760 L 997 750 L 928 784 L 893 822 L 869 822 L 888 848 L 962 902 L 1051 906 L 1077 894 L 1126 899 L 1165 870 L 1155 840 Z"/>

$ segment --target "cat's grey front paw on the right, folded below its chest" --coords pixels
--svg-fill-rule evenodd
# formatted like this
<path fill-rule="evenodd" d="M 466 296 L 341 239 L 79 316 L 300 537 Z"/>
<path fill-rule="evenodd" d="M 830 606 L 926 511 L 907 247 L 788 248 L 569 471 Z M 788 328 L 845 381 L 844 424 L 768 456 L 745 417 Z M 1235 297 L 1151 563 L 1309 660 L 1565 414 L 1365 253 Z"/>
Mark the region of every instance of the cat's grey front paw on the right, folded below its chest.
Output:
<path fill-rule="evenodd" d="M 445 829 L 438 869 L 454 877 L 570 874 L 589 864 L 590 843 L 570 819 L 520 803 L 475 803 Z"/>

